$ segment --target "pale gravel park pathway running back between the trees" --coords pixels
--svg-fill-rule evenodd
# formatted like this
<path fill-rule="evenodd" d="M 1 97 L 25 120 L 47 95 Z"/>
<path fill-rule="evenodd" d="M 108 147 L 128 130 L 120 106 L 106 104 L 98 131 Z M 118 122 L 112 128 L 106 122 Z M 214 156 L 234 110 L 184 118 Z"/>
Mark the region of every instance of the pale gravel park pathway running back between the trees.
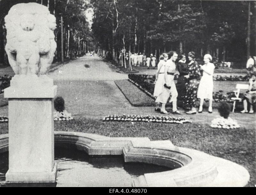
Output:
<path fill-rule="evenodd" d="M 10 67 L 2 69 L 1 75 L 3 74 L 12 75 Z M 100 119 L 108 114 L 159 114 L 154 111 L 154 107 L 132 106 L 114 83 L 115 80 L 128 79 L 128 75 L 115 72 L 108 62 L 96 55 L 91 57 L 87 54 L 72 60 L 47 75 L 54 79 L 54 84 L 58 86 L 57 95 L 64 98 L 66 110 L 76 119 Z M 8 115 L 8 105 L 0 108 L 0 115 Z M 219 114 L 217 110 L 213 110 L 212 114 L 184 113 L 182 116 L 193 122 L 209 124 Z M 255 127 L 255 115 L 231 113 L 230 117 L 243 126 Z"/>

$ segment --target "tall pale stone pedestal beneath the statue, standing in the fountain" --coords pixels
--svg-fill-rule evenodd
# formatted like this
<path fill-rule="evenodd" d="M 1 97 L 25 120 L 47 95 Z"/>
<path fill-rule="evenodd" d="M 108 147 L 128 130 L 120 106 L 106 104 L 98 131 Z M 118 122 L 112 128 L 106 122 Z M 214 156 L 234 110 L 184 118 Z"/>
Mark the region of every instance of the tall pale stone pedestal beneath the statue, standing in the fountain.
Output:
<path fill-rule="evenodd" d="M 46 75 L 15 75 L 4 90 L 9 103 L 9 170 L 6 183 L 52 183 L 53 98 L 57 86 Z"/>

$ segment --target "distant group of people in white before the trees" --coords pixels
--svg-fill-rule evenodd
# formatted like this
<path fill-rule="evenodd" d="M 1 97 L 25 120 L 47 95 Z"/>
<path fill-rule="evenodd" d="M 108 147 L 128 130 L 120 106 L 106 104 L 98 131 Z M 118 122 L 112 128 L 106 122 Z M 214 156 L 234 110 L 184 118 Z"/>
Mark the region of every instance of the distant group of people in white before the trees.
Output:
<path fill-rule="evenodd" d="M 131 63 L 133 66 L 147 65 L 149 68 L 151 65 L 154 68 L 156 66 L 156 55 L 153 56 L 153 54 L 151 54 L 149 57 L 147 57 L 145 54 L 132 53 Z"/>

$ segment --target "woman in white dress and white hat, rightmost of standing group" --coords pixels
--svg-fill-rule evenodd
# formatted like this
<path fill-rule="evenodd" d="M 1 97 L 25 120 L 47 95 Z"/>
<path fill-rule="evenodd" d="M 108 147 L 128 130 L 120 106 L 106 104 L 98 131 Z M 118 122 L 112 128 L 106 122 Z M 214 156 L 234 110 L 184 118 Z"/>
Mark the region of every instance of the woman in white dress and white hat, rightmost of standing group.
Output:
<path fill-rule="evenodd" d="M 204 65 L 199 65 L 203 70 L 203 76 L 200 80 L 197 97 L 200 98 L 200 107 L 198 113 L 202 113 L 204 99 L 209 99 L 209 108 L 208 112 L 212 113 L 212 91 L 213 91 L 213 72 L 214 72 L 214 64 L 210 61 L 212 60 L 212 56 L 210 54 L 204 55 Z"/>

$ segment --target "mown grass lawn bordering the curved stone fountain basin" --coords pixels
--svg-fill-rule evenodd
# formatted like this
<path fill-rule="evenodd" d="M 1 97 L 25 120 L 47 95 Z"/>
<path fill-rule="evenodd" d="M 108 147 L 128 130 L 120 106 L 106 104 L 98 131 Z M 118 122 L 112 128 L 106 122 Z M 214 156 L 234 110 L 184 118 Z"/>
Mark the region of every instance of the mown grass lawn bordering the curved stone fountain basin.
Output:
<path fill-rule="evenodd" d="M 103 122 L 80 118 L 55 122 L 55 131 L 78 131 L 113 137 L 148 137 L 150 140 L 170 140 L 174 145 L 196 149 L 231 160 L 250 173 L 247 186 L 256 182 L 255 129 L 212 129 L 208 125 L 165 124 L 146 122 Z M 0 133 L 8 133 L 8 123 L 0 123 Z"/>

